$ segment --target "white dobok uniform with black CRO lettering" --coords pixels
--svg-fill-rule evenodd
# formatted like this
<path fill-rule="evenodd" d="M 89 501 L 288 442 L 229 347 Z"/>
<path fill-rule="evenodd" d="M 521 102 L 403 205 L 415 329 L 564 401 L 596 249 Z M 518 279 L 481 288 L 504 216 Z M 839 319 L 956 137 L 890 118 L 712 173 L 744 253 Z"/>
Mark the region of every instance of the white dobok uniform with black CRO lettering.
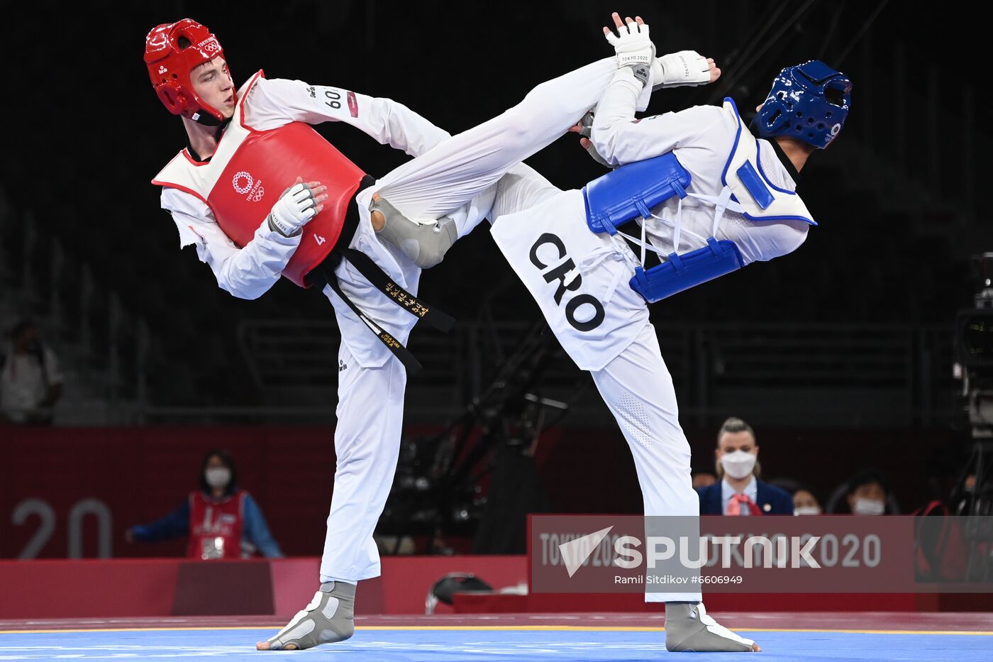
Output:
<path fill-rule="evenodd" d="M 730 109 L 695 106 L 633 121 L 640 88 L 630 70 L 619 70 L 597 107 L 597 150 L 619 165 L 673 151 L 692 175 L 687 191 L 717 196 L 738 126 Z M 760 140 L 759 150 L 766 177 L 783 190 L 794 190 L 772 145 Z M 672 198 L 653 209 L 665 221 L 649 220 L 645 227 L 652 245 L 665 253 L 673 250 L 677 205 Z M 523 164 L 497 184 L 490 219 L 497 246 L 563 348 L 593 375 L 617 418 L 635 457 L 645 515 L 699 515 L 672 378 L 648 321 L 647 304 L 629 285 L 640 263 L 635 252 L 617 235 L 590 231 L 581 191 L 561 191 Z M 706 246 L 713 220 L 713 205 L 684 199 L 678 252 Z M 733 240 L 747 264 L 799 247 L 806 229 L 801 221 L 752 222 L 725 212 L 716 238 Z M 701 594 L 648 592 L 645 599 L 690 601 Z"/>

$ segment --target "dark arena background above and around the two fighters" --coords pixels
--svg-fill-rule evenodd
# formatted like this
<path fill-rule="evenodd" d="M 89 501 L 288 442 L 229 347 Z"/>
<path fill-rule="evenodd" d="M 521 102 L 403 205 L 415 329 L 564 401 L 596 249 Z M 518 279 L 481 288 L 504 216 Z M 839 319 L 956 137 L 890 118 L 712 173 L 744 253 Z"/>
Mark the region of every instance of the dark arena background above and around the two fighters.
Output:
<path fill-rule="evenodd" d="M 496 115 L 536 83 L 610 56 L 600 27 L 617 9 L 640 14 L 659 51 L 693 49 L 714 57 L 724 71 L 716 85 L 655 94 L 648 113 L 719 103 L 725 95 L 743 110 L 752 108 L 781 67 L 810 59 L 823 59 L 854 83 L 844 131 L 829 150 L 813 156 L 799 183 L 819 223 L 806 243 L 652 306 L 653 320 L 704 330 L 752 323 L 931 325 L 947 328 L 947 349 L 956 310 L 972 305 L 969 256 L 993 246 L 982 199 L 993 94 L 974 57 L 988 39 L 975 7 L 815 0 L 33 3 L 19 8 L 16 19 L 9 16 L 5 30 L 0 185 L 16 218 L 36 228 L 42 241 L 31 254 L 18 254 L 11 248 L 20 246 L 23 226 L 4 227 L 2 258 L 15 277 L 3 287 L 74 286 L 47 282 L 44 270 L 39 282 L 17 280 L 25 263 L 44 260 L 58 242 L 72 263 L 89 265 L 97 289 L 117 292 L 129 314 L 152 330 L 154 351 L 144 367 L 151 404 L 272 403 L 275 395 L 246 375 L 235 347 L 238 324 L 328 321 L 330 306 L 318 292 L 286 280 L 257 301 L 235 299 L 217 288 L 192 249 L 177 249 L 176 229 L 149 181 L 184 145 L 185 133 L 148 82 L 141 59 L 147 32 L 195 18 L 218 37 L 237 84 L 264 69 L 268 78 L 346 87 L 401 101 L 456 133 Z M 350 126 L 319 130 L 373 175 L 405 159 Z M 528 162 L 562 188 L 603 174 L 571 135 Z M 425 272 L 421 292 L 468 322 L 486 314 L 529 323 L 538 315 L 485 228 Z M 67 299 L 70 312 L 77 312 L 72 296 Z M 110 329 L 96 322 L 94 333 Z M 133 341 L 125 334 L 121 342 Z M 667 361 L 678 362 L 678 348 L 668 349 L 663 344 Z M 456 370 L 461 361 L 453 359 Z M 562 362 L 567 368 L 567 359 Z M 484 371 L 498 368 L 497 357 Z M 947 388 L 950 414 L 912 417 L 908 427 L 935 430 L 932 442 L 916 436 L 914 445 L 888 455 L 884 467 L 904 474 L 908 492 L 937 465 L 950 474 L 967 439 L 951 415 L 950 361 L 939 370 L 946 371 L 941 388 Z M 411 380 L 411 398 L 429 386 L 419 379 Z M 684 386 L 678 375 L 676 386 Z M 823 396 L 827 404 L 832 393 L 848 387 L 832 388 Z M 700 468 L 710 468 L 713 423 L 726 414 L 735 411 L 684 421 L 694 448 L 704 449 L 696 455 Z M 203 419 L 217 422 L 210 415 Z M 872 425 L 858 419 L 846 418 L 837 443 L 853 429 L 867 438 L 864 430 Z M 602 422 L 613 426 L 609 417 Z M 775 419 L 767 424 L 777 427 Z M 899 431 L 887 434 L 899 448 Z M 959 442 L 948 441 L 949 434 Z M 802 432 L 783 436 L 803 438 Z M 820 463 L 829 464 L 832 475 L 861 463 L 857 448 L 845 446 L 839 455 L 823 443 L 825 454 L 813 454 L 806 467 L 811 474 Z"/>

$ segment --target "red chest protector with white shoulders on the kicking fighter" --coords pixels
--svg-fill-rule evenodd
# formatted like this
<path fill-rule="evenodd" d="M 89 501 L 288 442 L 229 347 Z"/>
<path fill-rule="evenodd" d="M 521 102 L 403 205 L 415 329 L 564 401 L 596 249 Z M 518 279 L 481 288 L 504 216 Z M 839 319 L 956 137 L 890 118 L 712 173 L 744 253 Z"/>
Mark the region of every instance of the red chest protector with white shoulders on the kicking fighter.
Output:
<path fill-rule="evenodd" d="M 177 188 L 203 200 L 224 234 L 248 244 L 283 191 L 297 176 L 328 187 L 324 210 L 304 226 L 283 275 L 307 287 L 307 274 L 328 256 L 342 234 L 349 202 L 364 173 L 309 124 L 291 122 L 266 131 L 244 123 L 244 105 L 259 72 L 238 90 L 238 104 L 210 161 L 180 152 L 153 184 Z"/>

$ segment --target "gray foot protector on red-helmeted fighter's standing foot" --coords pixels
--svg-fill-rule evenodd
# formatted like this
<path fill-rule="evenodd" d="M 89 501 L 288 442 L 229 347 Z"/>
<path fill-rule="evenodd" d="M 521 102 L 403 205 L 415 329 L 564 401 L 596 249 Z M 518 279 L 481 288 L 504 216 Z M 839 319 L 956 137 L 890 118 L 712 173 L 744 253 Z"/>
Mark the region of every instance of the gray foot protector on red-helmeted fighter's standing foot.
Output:
<path fill-rule="evenodd" d="M 345 641 L 355 634 L 355 584 L 327 581 L 302 611 L 269 639 L 269 650 L 298 650 Z"/>

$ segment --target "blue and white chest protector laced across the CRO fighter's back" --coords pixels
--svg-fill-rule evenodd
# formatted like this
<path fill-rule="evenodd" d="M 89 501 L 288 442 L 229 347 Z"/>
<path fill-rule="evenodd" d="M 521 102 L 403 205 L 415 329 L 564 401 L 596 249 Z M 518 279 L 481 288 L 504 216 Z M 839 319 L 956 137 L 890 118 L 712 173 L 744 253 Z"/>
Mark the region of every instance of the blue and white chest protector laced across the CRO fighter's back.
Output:
<path fill-rule="evenodd" d="M 594 233 L 615 235 L 618 226 L 637 218 L 642 219 L 643 233 L 645 220 L 652 218 L 651 209 L 673 196 L 682 199 L 688 195 L 715 206 L 713 232 L 707 246 L 682 254 L 673 250 L 666 261 L 648 269 L 644 268 L 642 251 L 642 265 L 635 269 L 630 284 L 648 303 L 744 266 L 741 251 L 734 242 L 713 237 L 725 210 L 742 214 L 752 221 L 793 219 L 816 225 L 795 193 L 767 185 L 768 180 L 760 174 L 758 141 L 744 130 L 741 115 L 732 99 L 725 99 L 724 108 L 727 121 L 733 122 L 737 131 L 721 176 L 724 189 L 720 196 L 687 192 L 690 173 L 672 152 L 623 165 L 583 187 L 587 225 Z M 678 232 L 677 222 L 673 235 L 677 245 Z M 640 242 L 622 235 L 642 248 L 650 248 L 646 246 L 643 235 Z"/>

